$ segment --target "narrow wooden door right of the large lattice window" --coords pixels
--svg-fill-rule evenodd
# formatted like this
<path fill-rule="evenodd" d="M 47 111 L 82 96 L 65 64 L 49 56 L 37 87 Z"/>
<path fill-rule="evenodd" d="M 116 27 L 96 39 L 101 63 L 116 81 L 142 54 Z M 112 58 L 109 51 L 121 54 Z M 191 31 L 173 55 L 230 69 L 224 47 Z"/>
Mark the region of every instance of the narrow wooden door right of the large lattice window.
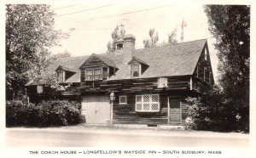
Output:
<path fill-rule="evenodd" d="M 169 121 L 170 123 L 180 122 L 180 98 L 170 97 L 169 98 Z"/>

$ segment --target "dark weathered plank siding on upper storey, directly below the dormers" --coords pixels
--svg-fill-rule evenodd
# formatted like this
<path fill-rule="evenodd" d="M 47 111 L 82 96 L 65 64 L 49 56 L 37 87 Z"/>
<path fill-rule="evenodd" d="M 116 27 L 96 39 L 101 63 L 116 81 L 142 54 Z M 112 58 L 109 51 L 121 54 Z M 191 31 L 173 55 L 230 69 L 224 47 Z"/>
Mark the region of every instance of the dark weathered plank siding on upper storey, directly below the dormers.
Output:
<path fill-rule="evenodd" d="M 81 93 L 90 92 L 162 92 L 189 89 L 189 76 L 169 77 L 168 87 L 158 88 L 158 78 L 136 78 L 130 80 L 109 80 L 81 82 Z"/>

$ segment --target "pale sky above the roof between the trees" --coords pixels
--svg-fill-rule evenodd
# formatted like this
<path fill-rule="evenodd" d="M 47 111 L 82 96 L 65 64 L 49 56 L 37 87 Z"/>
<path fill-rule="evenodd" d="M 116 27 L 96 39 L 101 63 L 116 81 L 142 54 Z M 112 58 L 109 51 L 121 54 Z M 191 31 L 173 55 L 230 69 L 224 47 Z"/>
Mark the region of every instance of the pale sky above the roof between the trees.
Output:
<path fill-rule="evenodd" d="M 111 32 L 116 25 L 125 25 L 125 32 L 136 37 L 136 48 L 143 48 L 143 39 L 148 39 L 148 31 L 158 32 L 159 42 L 166 41 L 176 27 L 177 38 L 184 20 L 183 42 L 207 39 L 212 61 L 213 76 L 216 78 L 218 58 L 212 46 L 214 39 L 208 31 L 207 16 L 202 5 L 170 3 L 68 3 L 52 4 L 55 11 L 55 29 L 69 31 L 68 39 L 61 41 L 61 47 L 52 48 L 53 54 L 64 51 L 73 56 L 101 54 L 107 50 Z"/>

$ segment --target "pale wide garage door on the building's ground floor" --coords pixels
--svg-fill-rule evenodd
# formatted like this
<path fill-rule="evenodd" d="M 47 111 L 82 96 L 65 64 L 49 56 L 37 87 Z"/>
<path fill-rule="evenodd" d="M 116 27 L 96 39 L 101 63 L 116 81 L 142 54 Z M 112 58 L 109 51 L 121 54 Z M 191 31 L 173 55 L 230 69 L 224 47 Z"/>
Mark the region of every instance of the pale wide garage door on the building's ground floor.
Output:
<path fill-rule="evenodd" d="M 110 107 L 108 95 L 88 95 L 83 97 L 82 114 L 87 124 L 109 124 Z"/>

